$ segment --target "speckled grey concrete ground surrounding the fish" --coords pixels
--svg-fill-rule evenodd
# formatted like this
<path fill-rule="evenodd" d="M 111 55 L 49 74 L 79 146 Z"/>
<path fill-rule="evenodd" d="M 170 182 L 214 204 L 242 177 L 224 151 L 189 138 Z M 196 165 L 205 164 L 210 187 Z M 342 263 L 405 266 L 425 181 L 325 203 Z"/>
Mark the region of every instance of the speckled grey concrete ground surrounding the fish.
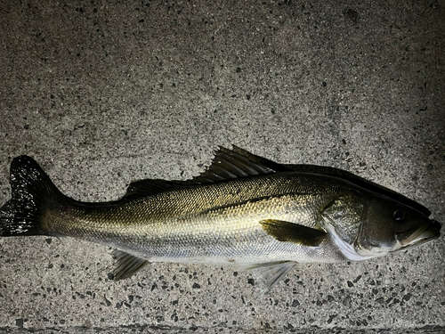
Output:
<path fill-rule="evenodd" d="M 198 175 L 231 143 L 339 167 L 445 222 L 441 1 L 10 2 L 0 5 L 0 204 L 34 157 L 77 200 Z M 156 264 L 110 281 L 110 248 L 0 239 L 0 333 L 445 332 L 445 240 L 251 273 Z"/>

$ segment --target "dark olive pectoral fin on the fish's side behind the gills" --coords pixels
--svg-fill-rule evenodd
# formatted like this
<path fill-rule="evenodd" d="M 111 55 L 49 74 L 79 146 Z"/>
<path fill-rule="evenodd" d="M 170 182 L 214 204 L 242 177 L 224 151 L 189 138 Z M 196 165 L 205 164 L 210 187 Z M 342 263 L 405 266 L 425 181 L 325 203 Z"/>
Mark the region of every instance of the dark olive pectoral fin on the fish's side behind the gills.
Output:
<path fill-rule="evenodd" d="M 317 247 L 328 236 L 326 232 L 282 220 L 266 219 L 260 221 L 260 224 L 264 232 L 276 240 L 294 242 L 303 246 Z"/>

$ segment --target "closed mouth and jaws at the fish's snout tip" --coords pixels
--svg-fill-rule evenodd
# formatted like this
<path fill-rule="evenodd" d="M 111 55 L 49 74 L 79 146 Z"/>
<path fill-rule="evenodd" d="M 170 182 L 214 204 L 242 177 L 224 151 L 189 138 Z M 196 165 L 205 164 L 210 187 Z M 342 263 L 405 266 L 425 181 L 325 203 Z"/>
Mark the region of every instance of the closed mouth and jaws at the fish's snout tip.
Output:
<path fill-rule="evenodd" d="M 426 242 L 435 240 L 441 236 L 441 224 L 436 220 L 431 220 L 417 229 L 396 233 L 396 240 L 401 244 L 401 248 L 423 245 Z"/>

